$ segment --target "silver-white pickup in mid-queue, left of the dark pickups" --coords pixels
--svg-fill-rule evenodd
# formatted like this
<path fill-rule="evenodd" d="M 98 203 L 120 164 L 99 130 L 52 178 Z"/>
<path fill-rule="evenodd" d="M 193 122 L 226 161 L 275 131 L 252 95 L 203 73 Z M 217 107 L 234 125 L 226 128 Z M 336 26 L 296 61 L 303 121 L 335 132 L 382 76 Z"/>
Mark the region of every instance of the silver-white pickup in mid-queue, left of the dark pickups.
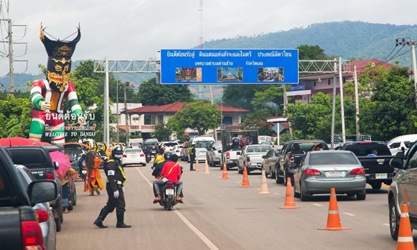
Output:
<path fill-rule="evenodd" d="M 252 170 L 262 170 L 263 156 L 270 151 L 272 147 L 264 144 L 252 144 L 243 147 L 238 158 L 238 173 L 243 174 L 246 167 L 247 174 Z"/>

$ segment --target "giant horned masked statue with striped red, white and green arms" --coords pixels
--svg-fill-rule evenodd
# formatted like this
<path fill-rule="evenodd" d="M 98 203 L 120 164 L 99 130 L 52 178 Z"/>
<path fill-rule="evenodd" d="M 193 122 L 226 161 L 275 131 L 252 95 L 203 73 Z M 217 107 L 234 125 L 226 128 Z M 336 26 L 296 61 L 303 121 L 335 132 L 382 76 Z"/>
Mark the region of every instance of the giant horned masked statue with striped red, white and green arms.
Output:
<path fill-rule="evenodd" d="M 65 143 L 64 117 L 78 119 L 81 126 L 85 125 L 83 111 L 79 105 L 74 84 L 70 81 L 71 57 L 76 43 L 81 38 L 80 28 L 72 41 L 49 40 L 40 25 L 40 40 L 48 53 L 47 79 L 34 81 L 31 85 L 31 101 L 33 102 L 32 121 L 29 138 L 40 141 L 44 127 L 52 127 L 52 144 Z M 68 99 L 71 108 L 63 114 L 63 99 Z"/>

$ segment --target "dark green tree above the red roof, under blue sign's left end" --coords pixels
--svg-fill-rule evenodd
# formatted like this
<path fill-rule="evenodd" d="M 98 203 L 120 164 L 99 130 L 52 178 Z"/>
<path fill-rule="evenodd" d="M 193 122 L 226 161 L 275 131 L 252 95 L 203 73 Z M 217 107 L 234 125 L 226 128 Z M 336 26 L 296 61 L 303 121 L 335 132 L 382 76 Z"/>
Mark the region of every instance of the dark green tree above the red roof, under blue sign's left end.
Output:
<path fill-rule="evenodd" d="M 156 84 L 156 78 L 144 81 L 139 86 L 137 100 L 143 106 L 161 106 L 176 101 L 193 101 L 188 85 Z"/>

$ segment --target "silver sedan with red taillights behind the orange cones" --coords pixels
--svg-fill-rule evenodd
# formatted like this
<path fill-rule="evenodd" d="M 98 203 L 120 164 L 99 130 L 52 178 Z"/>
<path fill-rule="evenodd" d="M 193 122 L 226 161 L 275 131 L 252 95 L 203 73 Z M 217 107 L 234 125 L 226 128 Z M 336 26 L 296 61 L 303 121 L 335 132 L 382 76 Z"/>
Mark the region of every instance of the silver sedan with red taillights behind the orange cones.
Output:
<path fill-rule="evenodd" d="M 313 194 L 356 194 L 366 199 L 366 176 L 358 158 L 351 151 L 311 151 L 306 153 L 294 173 L 294 196 L 302 201 Z"/>

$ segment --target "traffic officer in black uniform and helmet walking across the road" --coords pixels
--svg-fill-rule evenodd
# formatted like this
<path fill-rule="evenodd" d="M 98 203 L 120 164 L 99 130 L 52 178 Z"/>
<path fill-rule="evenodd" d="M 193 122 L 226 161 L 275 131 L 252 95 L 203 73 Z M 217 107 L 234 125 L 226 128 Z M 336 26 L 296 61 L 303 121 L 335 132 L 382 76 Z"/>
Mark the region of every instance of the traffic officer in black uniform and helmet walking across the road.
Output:
<path fill-rule="evenodd" d="M 116 146 L 113 148 L 111 153 L 111 159 L 107 161 L 104 166 L 104 173 L 107 176 L 106 181 L 106 190 L 108 194 L 108 201 L 106 206 L 101 209 L 99 217 L 95 220 L 94 224 L 99 228 L 106 228 L 107 226 L 103 225 L 103 221 L 108 215 L 112 213 L 116 208 L 116 217 L 117 217 L 117 228 L 129 228 L 131 225 L 124 224 L 124 182 L 126 181 L 126 176 L 122 166 L 120 165 L 120 159 L 123 156 L 122 147 Z"/>

